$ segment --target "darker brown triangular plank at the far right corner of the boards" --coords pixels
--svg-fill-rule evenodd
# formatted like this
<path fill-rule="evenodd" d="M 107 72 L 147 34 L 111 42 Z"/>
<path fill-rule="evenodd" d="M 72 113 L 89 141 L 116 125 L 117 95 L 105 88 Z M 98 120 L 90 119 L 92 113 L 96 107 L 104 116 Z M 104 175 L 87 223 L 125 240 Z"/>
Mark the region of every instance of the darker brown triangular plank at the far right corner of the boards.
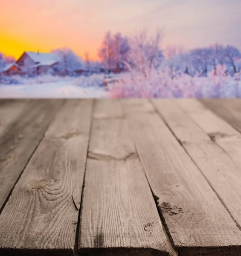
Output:
<path fill-rule="evenodd" d="M 241 132 L 241 99 L 202 99 L 200 102 Z"/>

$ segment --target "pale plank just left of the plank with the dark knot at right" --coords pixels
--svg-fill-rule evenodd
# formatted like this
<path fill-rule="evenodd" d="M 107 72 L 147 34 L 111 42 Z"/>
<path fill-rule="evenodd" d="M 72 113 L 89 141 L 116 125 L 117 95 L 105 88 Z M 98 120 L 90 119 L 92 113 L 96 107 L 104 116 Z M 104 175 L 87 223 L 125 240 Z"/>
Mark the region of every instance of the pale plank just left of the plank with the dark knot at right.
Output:
<path fill-rule="evenodd" d="M 187 110 L 187 105 L 192 105 L 194 113 L 193 100 L 175 102 L 154 101 L 154 104 L 241 229 L 241 168 L 181 110 L 180 107 Z"/>

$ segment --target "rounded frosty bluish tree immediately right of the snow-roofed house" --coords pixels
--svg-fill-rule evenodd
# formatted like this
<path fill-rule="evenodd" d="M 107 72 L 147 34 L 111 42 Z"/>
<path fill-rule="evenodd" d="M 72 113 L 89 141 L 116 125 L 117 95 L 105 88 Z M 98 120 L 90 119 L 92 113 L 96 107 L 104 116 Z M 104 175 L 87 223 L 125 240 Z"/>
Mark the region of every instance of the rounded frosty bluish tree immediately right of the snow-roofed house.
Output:
<path fill-rule="evenodd" d="M 60 58 L 56 69 L 66 76 L 72 76 L 75 70 L 81 69 L 84 66 L 83 59 L 71 49 L 55 49 L 52 52 L 57 53 Z"/>

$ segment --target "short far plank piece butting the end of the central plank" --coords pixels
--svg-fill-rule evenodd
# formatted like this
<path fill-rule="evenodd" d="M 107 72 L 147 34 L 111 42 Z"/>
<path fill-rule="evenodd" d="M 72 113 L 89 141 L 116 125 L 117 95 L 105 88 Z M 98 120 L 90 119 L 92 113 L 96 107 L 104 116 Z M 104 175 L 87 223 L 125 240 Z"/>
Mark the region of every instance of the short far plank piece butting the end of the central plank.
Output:
<path fill-rule="evenodd" d="M 118 99 L 96 99 L 95 119 L 123 118 L 123 111 Z"/>

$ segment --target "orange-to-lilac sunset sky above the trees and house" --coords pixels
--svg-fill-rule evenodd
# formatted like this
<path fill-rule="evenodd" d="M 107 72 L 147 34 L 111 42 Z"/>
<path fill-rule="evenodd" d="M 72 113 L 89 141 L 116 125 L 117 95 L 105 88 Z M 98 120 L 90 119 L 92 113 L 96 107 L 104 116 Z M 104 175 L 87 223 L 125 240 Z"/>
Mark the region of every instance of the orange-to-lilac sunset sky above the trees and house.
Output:
<path fill-rule="evenodd" d="M 241 0 L 1 0 L 0 52 L 97 50 L 108 30 L 131 35 L 165 28 L 163 46 L 216 42 L 241 48 Z"/>

